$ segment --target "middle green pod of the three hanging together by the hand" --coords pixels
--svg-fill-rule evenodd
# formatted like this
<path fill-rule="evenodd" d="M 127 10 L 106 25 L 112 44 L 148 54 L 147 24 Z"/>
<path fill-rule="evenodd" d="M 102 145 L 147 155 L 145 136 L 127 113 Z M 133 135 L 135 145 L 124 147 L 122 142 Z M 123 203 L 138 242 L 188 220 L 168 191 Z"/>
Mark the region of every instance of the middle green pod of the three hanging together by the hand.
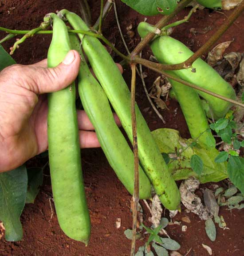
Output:
<path fill-rule="evenodd" d="M 96 135 L 110 166 L 114 169 L 118 179 L 133 195 L 133 152 L 114 121 L 113 112 L 105 92 L 88 68 L 78 37 L 75 34 L 69 36 L 71 47 L 81 55 L 78 90 L 83 108 L 95 128 Z M 141 167 L 139 167 L 139 198 L 151 198 L 151 184 Z"/>

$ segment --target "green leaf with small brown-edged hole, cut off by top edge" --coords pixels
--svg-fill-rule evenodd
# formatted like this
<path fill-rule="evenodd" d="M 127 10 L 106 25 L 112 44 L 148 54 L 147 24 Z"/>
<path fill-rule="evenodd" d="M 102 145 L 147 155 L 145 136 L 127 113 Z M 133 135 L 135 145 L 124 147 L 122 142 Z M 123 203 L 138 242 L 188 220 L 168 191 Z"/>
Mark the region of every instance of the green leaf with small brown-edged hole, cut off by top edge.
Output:
<path fill-rule="evenodd" d="M 159 13 L 168 15 L 177 7 L 177 0 L 122 0 L 122 2 L 147 16 Z"/>

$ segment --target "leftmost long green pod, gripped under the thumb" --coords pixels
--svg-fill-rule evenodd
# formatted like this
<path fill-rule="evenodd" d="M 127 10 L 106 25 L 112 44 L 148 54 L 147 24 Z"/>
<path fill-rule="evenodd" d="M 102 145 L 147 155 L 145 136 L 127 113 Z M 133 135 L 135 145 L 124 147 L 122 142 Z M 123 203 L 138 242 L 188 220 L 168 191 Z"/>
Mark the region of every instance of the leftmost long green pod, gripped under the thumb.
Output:
<path fill-rule="evenodd" d="M 48 17 L 53 20 L 53 35 L 47 64 L 53 68 L 63 61 L 71 45 L 63 20 L 54 13 Z M 67 236 L 87 244 L 91 223 L 83 183 L 78 131 L 75 83 L 72 83 L 48 95 L 49 164 L 59 225 Z"/>

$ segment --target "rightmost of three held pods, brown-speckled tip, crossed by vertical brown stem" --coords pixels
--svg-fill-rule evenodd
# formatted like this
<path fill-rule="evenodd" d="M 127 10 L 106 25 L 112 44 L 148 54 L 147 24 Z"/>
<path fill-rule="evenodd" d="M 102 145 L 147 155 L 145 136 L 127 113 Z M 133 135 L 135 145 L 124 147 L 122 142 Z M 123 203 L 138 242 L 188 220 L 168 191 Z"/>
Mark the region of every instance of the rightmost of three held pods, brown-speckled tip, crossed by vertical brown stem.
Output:
<path fill-rule="evenodd" d="M 75 29 L 89 30 L 83 20 L 75 13 L 62 10 L 59 12 L 65 16 Z M 104 89 L 110 103 L 121 120 L 130 141 L 132 137 L 130 90 L 127 87 L 117 65 L 97 38 L 79 34 L 83 49 Z M 145 119 L 136 104 L 138 154 L 144 172 L 159 196 L 162 204 L 175 210 L 179 207 L 181 196 L 175 181 L 169 173 L 168 167 L 151 135 Z"/>

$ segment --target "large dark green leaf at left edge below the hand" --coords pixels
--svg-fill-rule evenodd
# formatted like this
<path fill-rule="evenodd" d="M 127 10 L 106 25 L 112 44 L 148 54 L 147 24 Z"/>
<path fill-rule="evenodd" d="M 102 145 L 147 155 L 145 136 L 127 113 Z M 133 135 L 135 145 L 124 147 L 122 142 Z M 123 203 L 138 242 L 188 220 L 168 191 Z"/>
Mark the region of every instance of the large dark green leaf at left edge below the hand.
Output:
<path fill-rule="evenodd" d="M 4 223 L 7 241 L 22 239 L 20 215 L 25 204 L 27 184 L 24 166 L 0 173 L 0 220 Z"/>

